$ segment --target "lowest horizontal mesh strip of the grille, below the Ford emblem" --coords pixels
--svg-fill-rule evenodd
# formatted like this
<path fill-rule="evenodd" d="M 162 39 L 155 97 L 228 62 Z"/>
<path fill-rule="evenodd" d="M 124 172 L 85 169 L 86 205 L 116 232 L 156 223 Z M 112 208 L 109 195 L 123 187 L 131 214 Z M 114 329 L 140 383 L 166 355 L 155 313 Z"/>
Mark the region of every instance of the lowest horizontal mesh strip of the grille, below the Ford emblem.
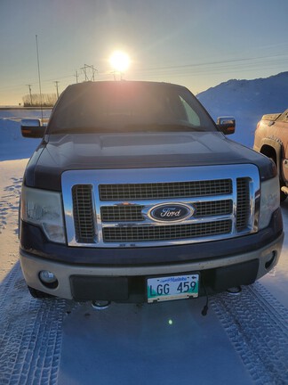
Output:
<path fill-rule="evenodd" d="M 135 227 L 105 227 L 104 242 L 172 241 L 231 232 L 232 221 L 190 225 L 158 225 Z"/>

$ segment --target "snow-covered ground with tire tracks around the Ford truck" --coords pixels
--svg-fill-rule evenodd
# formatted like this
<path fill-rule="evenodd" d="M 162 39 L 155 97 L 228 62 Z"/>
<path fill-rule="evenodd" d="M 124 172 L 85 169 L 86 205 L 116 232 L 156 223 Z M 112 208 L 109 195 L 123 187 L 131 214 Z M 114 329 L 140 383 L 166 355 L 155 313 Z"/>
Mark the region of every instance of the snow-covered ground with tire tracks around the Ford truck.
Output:
<path fill-rule="evenodd" d="M 38 112 L 37 112 L 38 113 Z M 36 113 L 36 114 L 37 114 Z M 0 384 L 288 384 L 288 240 L 240 295 L 158 305 L 32 299 L 20 271 L 18 201 L 38 143 L 0 111 Z M 35 115 L 35 114 L 34 114 Z M 288 225 L 288 201 L 282 205 Z"/>

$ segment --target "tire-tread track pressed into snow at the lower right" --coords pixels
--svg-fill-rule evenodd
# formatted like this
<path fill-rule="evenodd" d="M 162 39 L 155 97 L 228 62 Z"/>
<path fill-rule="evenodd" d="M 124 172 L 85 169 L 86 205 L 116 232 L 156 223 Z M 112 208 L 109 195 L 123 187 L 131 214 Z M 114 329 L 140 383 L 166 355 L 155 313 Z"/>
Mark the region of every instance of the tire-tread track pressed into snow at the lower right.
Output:
<path fill-rule="evenodd" d="M 260 283 L 211 304 L 255 384 L 288 384 L 288 310 Z"/>

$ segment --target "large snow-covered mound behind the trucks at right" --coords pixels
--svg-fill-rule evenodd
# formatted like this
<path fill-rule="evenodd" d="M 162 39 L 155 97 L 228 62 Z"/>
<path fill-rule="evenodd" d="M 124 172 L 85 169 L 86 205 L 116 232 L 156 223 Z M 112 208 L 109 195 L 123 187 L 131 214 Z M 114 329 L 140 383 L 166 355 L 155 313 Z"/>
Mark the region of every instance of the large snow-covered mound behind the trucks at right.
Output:
<path fill-rule="evenodd" d="M 249 147 L 253 145 L 254 130 L 262 115 L 288 109 L 288 72 L 269 78 L 228 80 L 197 94 L 211 114 L 236 118 L 236 134 L 228 137 Z"/>

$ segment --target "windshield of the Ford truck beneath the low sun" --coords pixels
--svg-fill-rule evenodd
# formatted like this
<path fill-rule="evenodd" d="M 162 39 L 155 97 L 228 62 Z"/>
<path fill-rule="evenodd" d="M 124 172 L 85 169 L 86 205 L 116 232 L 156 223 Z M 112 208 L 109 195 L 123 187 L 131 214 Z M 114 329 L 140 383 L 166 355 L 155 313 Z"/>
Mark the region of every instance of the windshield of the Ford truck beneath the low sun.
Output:
<path fill-rule="evenodd" d="M 161 83 L 95 82 L 70 86 L 60 97 L 49 133 L 215 131 L 187 88 Z"/>

